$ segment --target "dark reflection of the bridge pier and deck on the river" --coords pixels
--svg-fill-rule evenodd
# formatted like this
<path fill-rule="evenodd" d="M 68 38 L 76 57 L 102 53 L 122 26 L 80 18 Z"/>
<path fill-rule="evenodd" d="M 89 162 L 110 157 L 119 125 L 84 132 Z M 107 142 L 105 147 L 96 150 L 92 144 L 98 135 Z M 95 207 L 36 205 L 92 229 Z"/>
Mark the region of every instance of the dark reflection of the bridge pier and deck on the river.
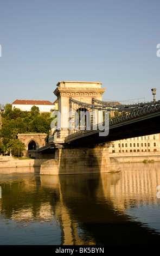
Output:
<path fill-rule="evenodd" d="M 92 234 L 96 245 L 158 245 L 158 233 L 114 206 L 110 188 L 120 176 L 102 174 L 100 179 L 96 175 L 60 176 L 63 203 L 71 220 L 80 223 L 86 234 Z"/>

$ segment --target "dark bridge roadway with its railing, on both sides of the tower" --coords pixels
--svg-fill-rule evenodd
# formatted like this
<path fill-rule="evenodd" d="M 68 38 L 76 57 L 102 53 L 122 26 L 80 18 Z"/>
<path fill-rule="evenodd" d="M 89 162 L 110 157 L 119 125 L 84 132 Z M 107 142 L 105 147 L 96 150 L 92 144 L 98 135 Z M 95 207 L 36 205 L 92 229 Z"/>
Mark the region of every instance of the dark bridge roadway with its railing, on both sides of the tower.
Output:
<path fill-rule="evenodd" d="M 73 148 L 92 147 L 94 144 L 160 133 L 160 102 L 110 119 L 107 136 L 99 136 L 99 132 L 100 130 L 93 130 L 91 127 L 89 131 L 72 133 L 66 137 L 65 145 Z M 49 151 L 52 147 L 54 145 L 49 143 L 39 149 L 39 152 Z"/>

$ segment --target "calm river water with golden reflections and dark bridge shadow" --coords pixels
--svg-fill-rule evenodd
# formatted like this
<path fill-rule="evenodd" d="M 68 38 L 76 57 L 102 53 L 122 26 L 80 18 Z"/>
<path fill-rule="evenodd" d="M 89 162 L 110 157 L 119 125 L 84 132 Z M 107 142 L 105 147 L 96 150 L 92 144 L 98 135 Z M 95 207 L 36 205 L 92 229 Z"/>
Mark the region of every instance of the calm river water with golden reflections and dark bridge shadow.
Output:
<path fill-rule="evenodd" d="M 34 170 L 1 169 L 0 245 L 159 245 L 160 162 L 123 163 L 120 173 Z"/>

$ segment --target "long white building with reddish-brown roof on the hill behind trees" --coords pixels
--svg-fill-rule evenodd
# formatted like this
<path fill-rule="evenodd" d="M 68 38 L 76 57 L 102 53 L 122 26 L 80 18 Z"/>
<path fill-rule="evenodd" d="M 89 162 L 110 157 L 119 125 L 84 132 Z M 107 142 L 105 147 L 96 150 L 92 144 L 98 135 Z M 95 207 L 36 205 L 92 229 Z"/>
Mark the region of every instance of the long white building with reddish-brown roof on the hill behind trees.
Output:
<path fill-rule="evenodd" d="M 55 104 L 48 100 L 15 100 L 12 103 L 12 110 L 14 108 L 19 108 L 21 111 L 30 111 L 31 107 L 39 107 L 40 112 L 50 112 L 55 109 Z"/>

